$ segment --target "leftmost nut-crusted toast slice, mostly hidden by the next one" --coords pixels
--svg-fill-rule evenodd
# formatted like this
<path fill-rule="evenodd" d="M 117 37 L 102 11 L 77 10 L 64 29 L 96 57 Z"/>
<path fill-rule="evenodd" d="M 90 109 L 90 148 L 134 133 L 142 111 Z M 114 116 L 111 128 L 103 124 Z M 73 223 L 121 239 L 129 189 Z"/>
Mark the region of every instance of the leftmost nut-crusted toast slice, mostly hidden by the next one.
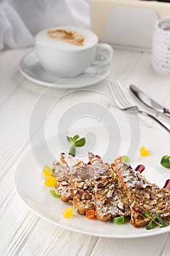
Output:
<path fill-rule="evenodd" d="M 65 203 L 72 203 L 72 193 L 70 178 L 71 174 L 69 168 L 62 162 L 55 160 L 53 162 L 53 176 L 57 183 L 55 186 L 56 194 L 61 196 L 61 200 Z"/>

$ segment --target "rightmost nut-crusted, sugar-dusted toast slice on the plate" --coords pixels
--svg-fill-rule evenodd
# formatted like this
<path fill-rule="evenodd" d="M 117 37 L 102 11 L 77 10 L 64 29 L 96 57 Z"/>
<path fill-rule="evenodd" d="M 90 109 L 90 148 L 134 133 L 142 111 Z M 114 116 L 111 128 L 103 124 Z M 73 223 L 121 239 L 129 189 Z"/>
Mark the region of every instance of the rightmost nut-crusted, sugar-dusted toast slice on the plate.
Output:
<path fill-rule="evenodd" d="M 133 170 L 121 157 L 115 159 L 113 168 L 131 202 L 131 224 L 134 227 L 145 226 L 150 219 L 144 217 L 144 212 L 150 216 L 159 214 L 162 219 L 170 219 L 170 192 L 161 189 Z"/>

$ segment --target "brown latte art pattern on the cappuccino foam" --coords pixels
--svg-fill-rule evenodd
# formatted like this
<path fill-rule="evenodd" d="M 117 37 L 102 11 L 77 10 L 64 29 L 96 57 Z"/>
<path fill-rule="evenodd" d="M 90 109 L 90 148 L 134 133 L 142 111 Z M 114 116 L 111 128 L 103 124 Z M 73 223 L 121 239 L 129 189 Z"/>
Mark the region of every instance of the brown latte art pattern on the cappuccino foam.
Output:
<path fill-rule="evenodd" d="M 47 31 L 47 35 L 55 40 L 61 40 L 71 45 L 82 46 L 85 42 L 85 37 L 77 31 L 68 31 L 64 29 L 55 29 Z"/>

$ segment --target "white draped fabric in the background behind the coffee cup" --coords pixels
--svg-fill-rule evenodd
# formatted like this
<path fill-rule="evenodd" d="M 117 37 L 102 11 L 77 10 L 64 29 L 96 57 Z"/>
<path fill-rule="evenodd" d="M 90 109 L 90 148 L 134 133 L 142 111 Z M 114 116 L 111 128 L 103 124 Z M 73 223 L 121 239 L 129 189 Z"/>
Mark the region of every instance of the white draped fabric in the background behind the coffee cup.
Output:
<path fill-rule="evenodd" d="M 34 44 L 34 35 L 50 26 L 89 28 L 89 0 L 0 0 L 0 50 Z"/>

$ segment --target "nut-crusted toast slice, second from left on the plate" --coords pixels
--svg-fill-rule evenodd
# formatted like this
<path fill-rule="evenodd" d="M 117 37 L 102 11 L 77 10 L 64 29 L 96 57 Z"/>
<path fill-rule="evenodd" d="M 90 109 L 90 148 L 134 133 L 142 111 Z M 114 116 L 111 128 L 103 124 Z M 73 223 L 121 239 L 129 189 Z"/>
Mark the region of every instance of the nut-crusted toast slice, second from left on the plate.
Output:
<path fill-rule="evenodd" d="M 93 176 L 90 166 L 66 154 L 61 154 L 61 161 L 68 165 L 71 173 L 71 193 L 73 206 L 77 213 L 85 214 L 87 210 L 94 209 Z"/>

